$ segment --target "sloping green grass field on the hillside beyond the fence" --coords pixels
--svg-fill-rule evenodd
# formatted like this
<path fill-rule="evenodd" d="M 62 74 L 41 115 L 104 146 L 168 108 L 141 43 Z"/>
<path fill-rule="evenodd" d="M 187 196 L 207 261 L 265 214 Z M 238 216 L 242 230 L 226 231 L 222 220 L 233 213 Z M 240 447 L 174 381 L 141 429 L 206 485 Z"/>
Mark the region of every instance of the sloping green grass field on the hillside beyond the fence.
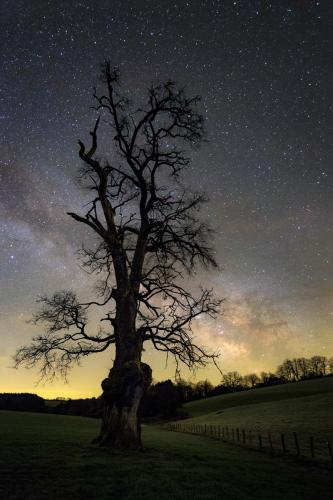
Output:
<path fill-rule="evenodd" d="M 327 439 L 333 444 L 333 377 L 226 394 L 189 403 L 185 408 L 193 416 L 188 424 L 260 431 L 267 446 L 270 433 L 276 449 L 281 448 L 281 433 L 292 449 L 292 432 L 296 432 L 306 456 L 310 456 L 311 435 L 317 457 L 329 459 Z"/>

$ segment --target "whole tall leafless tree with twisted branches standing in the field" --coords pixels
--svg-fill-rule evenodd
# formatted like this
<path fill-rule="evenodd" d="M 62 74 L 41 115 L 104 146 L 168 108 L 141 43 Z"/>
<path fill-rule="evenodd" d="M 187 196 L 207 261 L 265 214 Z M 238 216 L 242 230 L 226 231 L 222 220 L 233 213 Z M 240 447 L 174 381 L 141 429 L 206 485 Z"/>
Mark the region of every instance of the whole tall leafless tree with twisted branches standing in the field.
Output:
<path fill-rule="evenodd" d="M 115 359 L 102 382 L 104 416 L 97 442 L 140 448 L 138 408 L 151 369 L 141 361 L 143 344 L 171 354 L 188 367 L 206 365 L 209 353 L 194 339 L 193 320 L 215 317 L 220 300 L 212 290 L 194 295 L 186 274 L 197 265 L 216 267 L 211 230 L 200 221 L 202 194 L 182 187 L 191 176 L 186 146 L 203 137 L 198 97 L 167 81 L 152 85 L 145 106 L 134 108 L 121 93 L 119 72 L 102 66 L 105 93 L 95 90 L 98 118 L 91 143 L 79 141 L 81 180 L 92 193 L 84 214 L 97 244 L 82 250 L 83 266 L 100 278 L 98 297 L 82 303 L 71 291 L 42 297 L 34 321 L 45 332 L 16 353 L 16 364 L 39 363 L 43 376 L 66 374 L 73 362 L 115 345 Z M 99 130 L 110 126 L 112 160 L 98 154 Z M 188 182 L 187 182 L 188 184 Z M 88 311 L 100 308 L 105 328 L 89 332 Z"/>

